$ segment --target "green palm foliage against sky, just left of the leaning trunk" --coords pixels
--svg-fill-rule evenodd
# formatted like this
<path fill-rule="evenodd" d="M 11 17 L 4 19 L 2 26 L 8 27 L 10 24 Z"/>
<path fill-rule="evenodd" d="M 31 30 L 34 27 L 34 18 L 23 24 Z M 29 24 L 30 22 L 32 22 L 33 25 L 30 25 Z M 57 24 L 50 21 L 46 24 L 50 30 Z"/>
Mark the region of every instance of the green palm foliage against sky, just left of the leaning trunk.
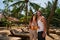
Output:
<path fill-rule="evenodd" d="M 50 1 L 48 1 L 48 3 L 45 5 L 46 5 L 46 8 L 41 7 L 41 11 L 43 12 L 43 15 L 47 19 L 50 14 L 50 9 L 52 8 L 53 2 L 51 3 Z"/>

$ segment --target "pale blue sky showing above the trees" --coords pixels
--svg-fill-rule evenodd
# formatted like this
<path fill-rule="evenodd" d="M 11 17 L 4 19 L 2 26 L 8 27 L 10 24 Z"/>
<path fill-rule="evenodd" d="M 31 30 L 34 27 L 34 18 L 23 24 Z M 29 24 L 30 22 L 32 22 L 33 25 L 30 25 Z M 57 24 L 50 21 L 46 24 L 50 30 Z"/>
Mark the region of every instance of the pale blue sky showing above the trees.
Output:
<path fill-rule="evenodd" d="M 39 5 L 41 5 L 42 7 L 46 7 L 45 3 L 47 3 L 48 1 L 52 0 L 31 0 L 31 2 L 37 3 Z M 60 6 L 60 0 L 58 0 L 58 6 Z M 0 9 L 4 9 L 4 4 L 3 4 L 3 0 L 0 0 Z"/>

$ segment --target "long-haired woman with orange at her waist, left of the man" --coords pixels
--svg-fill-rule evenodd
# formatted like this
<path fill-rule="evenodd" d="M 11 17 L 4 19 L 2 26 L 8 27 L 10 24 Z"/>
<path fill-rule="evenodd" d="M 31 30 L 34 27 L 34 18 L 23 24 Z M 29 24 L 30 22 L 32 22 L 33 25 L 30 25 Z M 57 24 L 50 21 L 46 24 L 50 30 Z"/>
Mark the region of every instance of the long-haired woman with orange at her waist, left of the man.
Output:
<path fill-rule="evenodd" d="M 30 22 L 30 40 L 36 40 L 37 39 L 37 23 L 36 23 L 36 16 L 33 14 Z"/>

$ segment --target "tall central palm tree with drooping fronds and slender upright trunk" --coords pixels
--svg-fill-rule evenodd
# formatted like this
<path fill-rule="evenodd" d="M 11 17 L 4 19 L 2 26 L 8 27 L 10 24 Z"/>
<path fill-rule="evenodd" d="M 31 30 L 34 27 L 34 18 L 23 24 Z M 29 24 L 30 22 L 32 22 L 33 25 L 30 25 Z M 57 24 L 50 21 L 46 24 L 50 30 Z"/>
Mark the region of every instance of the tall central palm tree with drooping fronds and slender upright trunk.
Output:
<path fill-rule="evenodd" d="M 35 11 L 37 11 L 40 8 L 39 5 L 30 2 L 30 0 L 18 0 L 17 2 L 13 3 L 10 6 L 16 6 L 16 8 L 15 8 L 16 11 L 14 13 L 25 11 L 26 22 L 27 22 L 28 10 L 29 10 L 28 8 L 30 8 L 32 10 L 35 9 Z M 12 11 L 14 11 L 14 10 L 12 10 Z"/>

